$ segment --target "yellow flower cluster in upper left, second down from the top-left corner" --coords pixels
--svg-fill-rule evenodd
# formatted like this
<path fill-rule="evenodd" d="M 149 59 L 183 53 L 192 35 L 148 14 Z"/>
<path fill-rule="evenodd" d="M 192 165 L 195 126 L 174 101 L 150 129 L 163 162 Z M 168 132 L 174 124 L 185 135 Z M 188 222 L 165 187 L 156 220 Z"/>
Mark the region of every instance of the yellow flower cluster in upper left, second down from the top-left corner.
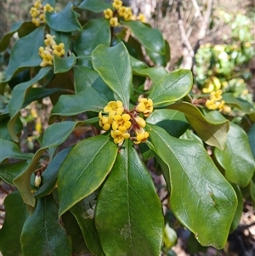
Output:
<path fill-rule="evenodd" d="M 57 44 L 54 40 L 54 36 L 47 34 L 44 44 L 45 48 L 41 46 L 38 53 L 42 58 L 41 66 L 53 65 L 54 54 L 59 57 L 65 55 L 65 44 Z"/>

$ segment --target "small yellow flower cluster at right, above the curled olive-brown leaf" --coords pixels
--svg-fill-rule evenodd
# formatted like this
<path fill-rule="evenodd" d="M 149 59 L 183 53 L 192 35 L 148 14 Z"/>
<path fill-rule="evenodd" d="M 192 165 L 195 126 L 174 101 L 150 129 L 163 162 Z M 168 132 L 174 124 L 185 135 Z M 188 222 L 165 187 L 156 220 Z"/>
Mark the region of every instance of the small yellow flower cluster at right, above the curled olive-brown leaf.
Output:
<path fill-rule="evenodd" d="M 206 107 L 208 110 L 217 110 L 223 111 L 224 113 L 229 113 L 231 108 L 228 105 L 225 105 L 225 101 L 222 100 L 222 90 L 213 91 L 209 99 L 206 101 Z"/>

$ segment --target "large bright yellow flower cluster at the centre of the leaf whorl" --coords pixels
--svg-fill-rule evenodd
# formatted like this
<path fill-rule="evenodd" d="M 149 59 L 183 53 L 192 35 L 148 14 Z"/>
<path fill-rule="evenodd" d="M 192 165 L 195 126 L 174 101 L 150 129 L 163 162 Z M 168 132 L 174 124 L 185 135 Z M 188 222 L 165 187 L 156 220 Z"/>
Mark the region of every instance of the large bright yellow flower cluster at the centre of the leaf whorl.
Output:
<path fill-rule="evenodd" d="M 111 137 L 116 144 L 122 144 L 124 139 L 130 138 L 130 133 L 134 132 L 136 136 L 131 139 L 138 145 L 149 137 L 149 133 L 144 131 L 146 122 L 144 118 L 139 117 L 139 113 L 149 117 L 152 111 L 153 102 L 150 99 L 139 99 L 139 104 L 132 111 L 124 109 L 120 100 L 110 101 L 104 108 L 107 115 L 99 112 L 99 126 L 105 131 L 111 129 Z"/>

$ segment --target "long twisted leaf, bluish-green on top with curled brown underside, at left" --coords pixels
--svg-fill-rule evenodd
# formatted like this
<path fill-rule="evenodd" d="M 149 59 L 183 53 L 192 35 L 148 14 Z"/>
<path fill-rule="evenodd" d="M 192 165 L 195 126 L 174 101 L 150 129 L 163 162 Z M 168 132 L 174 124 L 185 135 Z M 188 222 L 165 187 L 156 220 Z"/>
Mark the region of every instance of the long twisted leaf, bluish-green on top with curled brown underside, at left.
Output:
<path fill-rule="evenodd" d="M 20 194 L 27 204 L 35 206 L 35 197 L 31 193 L 31 174 L 37 169 L 38 162 L 49 147 L 60 145 L 67 139 L 73 129 L 81 122 L 60 122 L 49 126 L 42 137 L 42 147 L 33 156 L 26 170 L 14 179 L 14 185 L 20 191 Z"/>

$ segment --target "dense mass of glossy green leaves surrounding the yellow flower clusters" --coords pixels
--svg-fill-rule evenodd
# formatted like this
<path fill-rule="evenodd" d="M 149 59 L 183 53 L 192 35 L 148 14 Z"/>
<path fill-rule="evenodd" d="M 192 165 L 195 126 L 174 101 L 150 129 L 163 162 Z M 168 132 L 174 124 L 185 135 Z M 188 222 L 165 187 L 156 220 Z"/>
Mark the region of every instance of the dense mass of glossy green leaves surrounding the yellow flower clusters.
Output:
<path fill-rule="evenodd" d="M 0 116 L 0 177 L 17 188 L 4 201 L 3 256 L 157 256 L 169 249 L 172 223 L 151 165 L 166 181 L 167 211 L 203 246 L 224 247 L 241 217 L 242 188 L 255 200 L 253 105 L 229 93 L 223 99 L 230 112 L 209 111 L 210 95 L 192 92 L 190 71 L 165 69 L 170 48 L 159 30 L 139 20 L 112 27 L 105 9 L 115 11 L 101 0 L 68 3 L 46 12 L 40 26 L 15 24 L 1 40 L 3 51 L 15 32 L 20 37 L 1 85 L 12 91 Z M 83 20 L 84 10 L 102 15 Z M 52 55 L 53 65 L 40 66 L 46 35 L 64 51 Z M 99 113 L 118 100 L 131 110 L 141 96 L 153 102 L 144 127 L 149 138 L 116 144 L 101 130 Z M 48 127 L 40 148 L 25 153 L 20 111 L 46 97 L 53 104 Z M 94 134 L 63 149 L 77 128 Z"/>

